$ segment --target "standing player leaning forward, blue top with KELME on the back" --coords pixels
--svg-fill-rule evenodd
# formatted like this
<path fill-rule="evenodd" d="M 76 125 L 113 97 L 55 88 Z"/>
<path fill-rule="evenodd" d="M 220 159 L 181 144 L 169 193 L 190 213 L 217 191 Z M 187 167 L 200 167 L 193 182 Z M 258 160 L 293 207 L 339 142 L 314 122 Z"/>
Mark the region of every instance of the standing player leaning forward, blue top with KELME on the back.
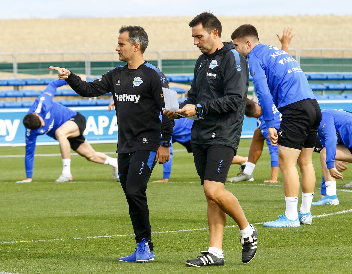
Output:
<path fill-rule="evenodd" d="M 242 25 L 231 35 L 236 49 L 247 57 L 254 88 L 263 109 L 272 145 L 278 145 L 279 167 L 282 173 L 286 211 L 265 227 L 298 227 L 311 224 L 315 172 L 312 153 L 321 111 L 297 61 L 275 46 L 260 44 L 258 32 L 252 25 Z M 279 132 L 275 129 L 272 102 L 282 113 Z M 302 204 L 297 214 L 300 179 Z"/>

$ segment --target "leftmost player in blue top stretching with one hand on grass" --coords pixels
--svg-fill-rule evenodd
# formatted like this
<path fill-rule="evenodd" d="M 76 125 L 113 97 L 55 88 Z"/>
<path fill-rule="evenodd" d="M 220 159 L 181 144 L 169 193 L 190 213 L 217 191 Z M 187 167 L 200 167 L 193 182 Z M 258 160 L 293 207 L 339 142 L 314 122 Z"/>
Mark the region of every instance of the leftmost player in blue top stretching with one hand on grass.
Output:
<path fill-rule="evenodd" d="M 83 76 L 82 76 L 83 77 Z M 53 102 L 56 89 L 66 85 L 66 81 L 52 81 L 34 101 L 27 115 L 23 118 L 26 127 L 25 166 L 27 179 L 17 183 L 30 183 L 33 176 L 34 150 L 38 135 L 47 134 L 59 141 L 62 156 L 62 174 L 56 182 L 72 181 L 71 148 L 88 161 L 108 164 L 113 167 L 113 178 L 118 178 L 117 159 L 102 152 L 96 152 L 82 135 L 86 129 L 86 118 L 62 104 Z"/>

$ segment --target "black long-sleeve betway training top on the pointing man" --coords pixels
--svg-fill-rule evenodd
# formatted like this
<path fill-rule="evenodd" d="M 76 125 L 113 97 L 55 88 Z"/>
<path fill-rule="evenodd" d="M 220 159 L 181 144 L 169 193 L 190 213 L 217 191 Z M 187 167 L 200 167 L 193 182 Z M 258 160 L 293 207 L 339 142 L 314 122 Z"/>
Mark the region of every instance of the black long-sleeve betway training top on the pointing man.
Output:
<path fill-rule="evenodd" d="M 117 153 L 157 151 L 160 141 L 170 141 L 174 121 L 162 115 L 165 107 L 162 87 L 169 83 L 162 72 L 148 62 L 137 69 L 117 66 L 93 82 L 81 81 L 71 73 L 66 82 L 83 97 L 112 92 L 117 117 Z M 161 137 L 162 133 L 162 137 Z"/>

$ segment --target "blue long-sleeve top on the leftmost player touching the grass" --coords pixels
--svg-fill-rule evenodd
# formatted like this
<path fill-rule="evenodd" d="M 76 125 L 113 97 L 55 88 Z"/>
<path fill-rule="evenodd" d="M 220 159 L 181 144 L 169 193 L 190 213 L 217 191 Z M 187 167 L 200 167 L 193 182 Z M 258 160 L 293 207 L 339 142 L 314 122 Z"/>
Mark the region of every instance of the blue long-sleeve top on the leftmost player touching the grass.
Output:
<path fill-rule="evenodd" d="M 56 92 L 56 88 L 66 84 L 66 81 L 58 79 L 52 81 L 46 87 L 44 92 L 36 98 L 27 113 L 38 113 L 38 115 L 44 119 L 45 123 L 45 126 L 38 129 L 26 129 L 25 166 L 27 178 L 32 178 L 33 176 L 34 151 L 36 149 L 37 136 L 47 134 L 56 140 L 56 129 L 60 127 L 64 122 L 77 115 L 76 111 L 73 111 L 63 106 L 62 104 L 52 101 L 52 98 Z"/>

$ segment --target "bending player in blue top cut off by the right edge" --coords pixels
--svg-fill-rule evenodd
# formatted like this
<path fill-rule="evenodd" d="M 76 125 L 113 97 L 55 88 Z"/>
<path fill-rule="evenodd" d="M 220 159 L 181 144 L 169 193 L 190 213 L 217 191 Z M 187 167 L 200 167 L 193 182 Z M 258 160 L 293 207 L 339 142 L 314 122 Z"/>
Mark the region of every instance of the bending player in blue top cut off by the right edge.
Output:
<path fill-rule="evenodd" d="M 334 166 L 335 160 L 352 163 L 352 113 L 337 109 L 324 109 L 318 127 L 322 144 L 320 162 L 326 185 L 326 195 L 312 205 L 338 205 L 336 179 L 344 177 Z M 345 185 L 345 186 L 348 186 Z"/>

